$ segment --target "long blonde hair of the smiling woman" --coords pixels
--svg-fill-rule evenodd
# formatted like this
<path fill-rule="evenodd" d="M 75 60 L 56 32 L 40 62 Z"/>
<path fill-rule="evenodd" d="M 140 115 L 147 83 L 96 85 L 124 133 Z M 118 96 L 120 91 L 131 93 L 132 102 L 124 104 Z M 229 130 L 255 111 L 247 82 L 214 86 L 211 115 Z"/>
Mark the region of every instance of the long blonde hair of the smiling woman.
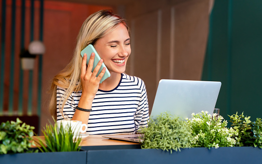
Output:
<path fill-rule="evenodd" d="M 130 32 L 129 27 L 126 24 L 126 20 L 116 14 L 113 14 L 110 10 L 97 11 L 91 14 L 83 22 L 77 36 L 77 44 L 72 60 L 52 80 L 50 87 L 51 99 L 49 104 L 49 112 L 51 116 L 56 118 L 58 103 L 59 111 L 61 112 L 63 118 L 65 118 L 62 111 L 66 100 L 73 92 L 82 90 L 80 79 L 82 63 L 82 57 L 80 55 L 81 50 L 89 44 L 94 45 L 98 39 L 116 29 L 120 23 L 123 23 L 126 26 L 128 32 Z M 60 102 L 56 101 L 57 86 L 66 89 L 65 94 L 61 98 Z"/>

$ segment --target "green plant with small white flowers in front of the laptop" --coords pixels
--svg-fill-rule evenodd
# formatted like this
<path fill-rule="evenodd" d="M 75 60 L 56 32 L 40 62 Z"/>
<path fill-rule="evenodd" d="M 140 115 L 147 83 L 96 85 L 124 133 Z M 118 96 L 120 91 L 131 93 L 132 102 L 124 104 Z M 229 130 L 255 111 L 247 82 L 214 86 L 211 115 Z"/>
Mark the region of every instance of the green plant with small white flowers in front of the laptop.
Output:
<path fill-rule="evenodd" d="M 192 114 L 192 119 L 187 119 L 188 125 L 191 127 L 192 147 L 233 147 L 236 144 L 234 135 L 237 131 L 233 128 L 226 128 L 227 121 L 223 121 L 222 116 L 213 118 L 208 112 Z M 223 122 L 222 122 L 223 121 Z"/>

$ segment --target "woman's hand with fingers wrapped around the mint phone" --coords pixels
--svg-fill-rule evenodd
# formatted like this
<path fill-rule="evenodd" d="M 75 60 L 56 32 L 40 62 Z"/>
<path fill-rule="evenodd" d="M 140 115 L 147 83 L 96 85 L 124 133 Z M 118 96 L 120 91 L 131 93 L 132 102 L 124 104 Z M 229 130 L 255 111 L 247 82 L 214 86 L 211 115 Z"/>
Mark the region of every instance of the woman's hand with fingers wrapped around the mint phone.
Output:
<path fill-rule="evenodd" d="M 93 68 L 93 63 L 94 63 L 94 58 L 95 55 L 92 52 L 88 65 L 86 65 L 86 59 L 87 59 L 87 55 L 84 54 L 83 56 L 83 60 L 82 60 L 82 65 L 81 65 L 81 84 L 82 84 L 82 96 L 86 96 L 88 98 L 92 98 L 94 99 L 95 94 L 98 90 L 99 84 L 100 84 L 100 80 L 102 79 L 102 77 L 105 74 L 105 67 L 102 69 L 101 73 L 96 77 L 102 63 L 103 63 L 103 59 L 100 59 L 100 61 L 98 62 L 97 66 L 95 67 L 94 71 L 92 72 L 92 68 Z M 81 97 L 82 97 L 81 96 Z"/>

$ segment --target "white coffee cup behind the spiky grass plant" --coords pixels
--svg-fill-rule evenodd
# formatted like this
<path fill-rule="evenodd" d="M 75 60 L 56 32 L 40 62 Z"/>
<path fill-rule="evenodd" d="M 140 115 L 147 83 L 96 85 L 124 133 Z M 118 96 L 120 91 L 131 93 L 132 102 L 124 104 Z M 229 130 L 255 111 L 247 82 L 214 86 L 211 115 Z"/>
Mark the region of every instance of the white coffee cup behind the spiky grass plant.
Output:
<path fill-rule="evenodd" d="M 56 122 L 57 127 L 60 129 L 61 125 L 63 126 L 63 129 L 65 129 L 66 131 L 69 129 L 69 127 L 71 127 L 73 136 L 79 136 L 80 133 L 86 133 L 87 130 L 87 125 L 86 124 L 82 124 L 81 121 L 75 121 L 75 120 L 60 120 Z M 85 127 L 85 129 L 83 130 L 83 127 Z"/>

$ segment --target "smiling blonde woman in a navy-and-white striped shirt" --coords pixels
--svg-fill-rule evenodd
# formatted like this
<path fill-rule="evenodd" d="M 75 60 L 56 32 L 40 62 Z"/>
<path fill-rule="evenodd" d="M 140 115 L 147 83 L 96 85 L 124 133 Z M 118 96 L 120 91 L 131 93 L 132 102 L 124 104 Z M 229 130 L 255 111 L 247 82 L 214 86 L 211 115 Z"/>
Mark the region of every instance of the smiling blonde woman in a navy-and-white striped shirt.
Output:
<path fill-rule="evenodd" d="M 50 112 L 57 120 L 71 119 L 87 124 L 87 133 L 134 134 L 149 119 L 144 82 L 126 75 L 131 53 L 129 27 L 125 19 L 109 10 L 90 15 L 83 23 L 71 62 L 54 77 Z M 101 60 L 93 73 L 94 53 L 89 63 L 82 49 L 92 44 Z M 105 68 L 111 76 L 100 84 Z"/>

